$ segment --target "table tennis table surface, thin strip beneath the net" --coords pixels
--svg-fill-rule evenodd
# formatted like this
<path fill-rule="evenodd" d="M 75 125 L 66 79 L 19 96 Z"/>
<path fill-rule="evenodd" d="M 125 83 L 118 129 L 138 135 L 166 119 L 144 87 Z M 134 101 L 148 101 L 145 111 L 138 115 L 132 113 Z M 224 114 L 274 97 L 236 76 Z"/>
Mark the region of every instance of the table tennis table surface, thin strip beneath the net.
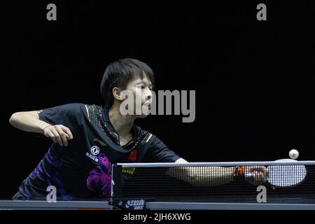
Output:
<path fill-rule="evenodd" d="M 92 201 L 13 201 L 1 200 L 0 210 L 116 210 L 109 202 Z M 315 210 L 315 204 L 231 203 L 231 202 L 146 202 L 151 210 Z"/>

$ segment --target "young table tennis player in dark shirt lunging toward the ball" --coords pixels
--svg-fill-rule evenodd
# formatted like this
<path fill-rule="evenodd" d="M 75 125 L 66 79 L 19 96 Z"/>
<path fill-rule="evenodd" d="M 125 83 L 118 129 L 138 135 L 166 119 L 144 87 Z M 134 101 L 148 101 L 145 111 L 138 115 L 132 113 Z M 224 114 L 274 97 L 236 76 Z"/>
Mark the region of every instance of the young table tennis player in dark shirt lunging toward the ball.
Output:
<path fill-rule="evenodd" d="M 45 200 L 48 186 L 55 186 L 57 200 L 108 198 L 111 192 L 111 164 L 117 162 L 186 162 L 170 150 L 158 137 L 134 125 L 140 115 L 123 115 L 122 91 L 141 97 L 141 106 L 152 102 L 153 71 L 137 59 L 120 59 L 106 68 L 101 94 L 105 106 L 65 104 L 62 106 L 14 113 L 10 124 L 25 132 L 37 132 L 52 139 L 48 153 L 27 179 L 22 181 L 13 200 Z M 137 105 L 135 105 L 137 106 Z M 181 178 L 195 185 L 228 183 L 241 174 L 240 167 L 224 168 L 218 176 L 198 182 L 194 168 L 182 169 Z M 177 177 L 178 169 L 169 175 Z M 200 172 L 200 169 L 198 170 Z M 248 169 L 256 180 L 265 169 Z M 213 182 L 213 180 L 216 180 Z"/>

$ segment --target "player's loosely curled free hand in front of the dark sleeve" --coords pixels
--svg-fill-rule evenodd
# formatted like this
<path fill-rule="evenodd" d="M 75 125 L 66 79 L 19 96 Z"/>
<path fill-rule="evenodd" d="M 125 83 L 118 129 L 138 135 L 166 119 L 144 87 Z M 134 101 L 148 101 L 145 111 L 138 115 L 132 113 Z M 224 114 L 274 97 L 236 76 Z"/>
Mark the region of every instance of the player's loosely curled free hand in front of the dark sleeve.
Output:
<path fill-rule="evenodd" d="M 44 128 L 43 134 L 60 146 L 68 146 L 68 141 L 73 139 L 71 131 L 64 125 L 49 125 Z"/>

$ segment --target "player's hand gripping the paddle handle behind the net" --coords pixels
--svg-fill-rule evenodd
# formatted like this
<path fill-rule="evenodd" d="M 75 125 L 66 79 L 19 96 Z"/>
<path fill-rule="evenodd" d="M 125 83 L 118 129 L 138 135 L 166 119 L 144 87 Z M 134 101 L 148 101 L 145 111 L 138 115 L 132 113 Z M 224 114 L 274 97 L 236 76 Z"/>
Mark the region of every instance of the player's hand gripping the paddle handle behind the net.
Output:
<path fill-rule="evenodd" d="M 267 168 L 264 166 L 248 166 L 246 167 L 246 181 L 259 186 L 268 181 Z M 248 175 L 249 174 L 249 175 Z"/>

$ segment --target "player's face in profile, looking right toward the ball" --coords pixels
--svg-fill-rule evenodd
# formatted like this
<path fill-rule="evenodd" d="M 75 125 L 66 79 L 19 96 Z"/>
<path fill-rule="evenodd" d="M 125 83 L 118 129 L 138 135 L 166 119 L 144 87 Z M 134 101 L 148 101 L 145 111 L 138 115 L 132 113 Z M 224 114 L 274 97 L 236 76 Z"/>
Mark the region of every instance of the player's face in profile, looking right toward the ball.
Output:
<path fill-rule="evenodd" d="M 132 79 L 127 85 L 127 90 L 130 90 L 134 95 L 134 114 L 136 114 L 137 107 L 141 107 L 141 111 L 144 110 L 144 107 L 150 109 L 153 94 L 152 94 L 153 85 L 150 78 L 144 73 L 144 76 L 137 76 Z M 137 104 L 137 100 L 141 99 L 141 104 Z M 138 118 L 145 118 L 146 115 L 142 113 L 137 115 Z"/>

